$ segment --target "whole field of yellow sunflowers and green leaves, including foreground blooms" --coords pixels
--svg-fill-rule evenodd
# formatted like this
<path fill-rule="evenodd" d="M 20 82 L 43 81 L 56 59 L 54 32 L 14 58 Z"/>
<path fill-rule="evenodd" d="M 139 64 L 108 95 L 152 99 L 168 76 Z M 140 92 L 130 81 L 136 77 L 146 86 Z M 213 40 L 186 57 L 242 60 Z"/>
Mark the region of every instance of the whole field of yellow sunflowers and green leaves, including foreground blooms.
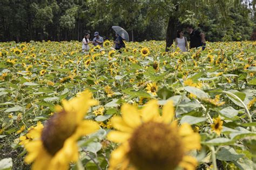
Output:
<path fill-rule="evenodd" d="M 0 169 L 255 169 L 256 42 L 0 44 Z"/>

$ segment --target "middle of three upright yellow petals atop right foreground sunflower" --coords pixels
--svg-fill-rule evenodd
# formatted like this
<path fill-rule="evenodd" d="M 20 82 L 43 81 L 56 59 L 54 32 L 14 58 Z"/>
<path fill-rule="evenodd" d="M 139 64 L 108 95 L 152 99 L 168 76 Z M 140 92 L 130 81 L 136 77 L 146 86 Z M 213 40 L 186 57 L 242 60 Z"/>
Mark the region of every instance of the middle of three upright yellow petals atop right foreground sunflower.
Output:
<path fill-rule="evenodd" d="M 144 122 L 153 120 L 159 116 L 158 113 L 158 105 L 157 100 L 150 100 L 149 103 L 147 103 L 142 108 L 142 119 Z"/>

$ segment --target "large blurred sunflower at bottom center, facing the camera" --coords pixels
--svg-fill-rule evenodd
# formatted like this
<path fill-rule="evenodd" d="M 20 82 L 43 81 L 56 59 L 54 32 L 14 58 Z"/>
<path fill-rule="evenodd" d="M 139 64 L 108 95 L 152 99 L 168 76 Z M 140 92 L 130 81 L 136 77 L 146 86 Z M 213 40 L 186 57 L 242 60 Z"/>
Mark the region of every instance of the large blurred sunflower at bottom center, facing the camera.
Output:
<path fill-rule="evenodd" d="M 173 121 L 174 108 L 168 101 L 160 116 L 157 100 L 151 100 L 142 110 L 124 104 L 122 117 L 113 117 L 107 138 L 121 145 L 111 153 L 111 169 L 195 169 L 197 159 L 188 155 L 200 149 L 200 135 L 190 125 L 178 127 Z"/>

